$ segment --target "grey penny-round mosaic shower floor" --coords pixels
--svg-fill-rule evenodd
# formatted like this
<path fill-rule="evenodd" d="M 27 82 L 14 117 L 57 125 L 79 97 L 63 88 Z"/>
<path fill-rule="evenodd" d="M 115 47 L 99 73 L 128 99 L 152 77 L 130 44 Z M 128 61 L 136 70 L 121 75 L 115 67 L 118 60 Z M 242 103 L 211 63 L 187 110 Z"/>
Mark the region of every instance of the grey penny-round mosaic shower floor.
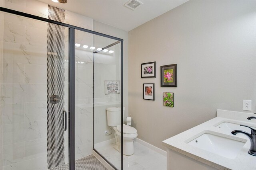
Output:
<path fill-rule="evenodd" d="M 93 154 L 75 161 L 76 170 L 108 170 Z M 68 164 L 60 165 L 50 170 L 68 170 Z"/>

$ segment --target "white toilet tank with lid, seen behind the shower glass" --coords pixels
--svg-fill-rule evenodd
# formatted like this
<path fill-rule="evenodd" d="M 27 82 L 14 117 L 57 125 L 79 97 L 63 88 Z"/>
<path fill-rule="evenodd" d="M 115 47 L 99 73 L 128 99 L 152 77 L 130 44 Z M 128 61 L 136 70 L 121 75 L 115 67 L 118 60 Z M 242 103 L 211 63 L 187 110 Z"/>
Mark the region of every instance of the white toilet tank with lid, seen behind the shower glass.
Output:
<path fill-rule="evenodd" d="M 124 113 L 124 109 L 123 109 L 123 113 Z M 108 121 L 108 126 L 114 127 L 114 126 L 120 125 L 121 124 L 121 107 L 108 107 L 107 121 Z"/>

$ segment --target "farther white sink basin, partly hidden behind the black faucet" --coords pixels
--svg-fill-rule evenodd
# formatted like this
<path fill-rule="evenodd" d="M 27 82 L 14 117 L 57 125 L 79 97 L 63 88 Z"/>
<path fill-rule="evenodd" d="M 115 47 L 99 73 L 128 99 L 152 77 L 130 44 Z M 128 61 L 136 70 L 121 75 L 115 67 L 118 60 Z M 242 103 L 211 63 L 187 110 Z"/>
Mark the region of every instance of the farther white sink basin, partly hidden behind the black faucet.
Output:
<path fill-rule="evenodd" d="M 231 123 L 228 121 L 224 121 L 224 122 L 218 123 L 216 125 L 216 127 L 219 128 L 223 133 L 226 133 L 226 134 L 230 134 L 234 130 L 242 130 L 242 131 L 246 131 L 247 133 L 251 133 L 250 128 L 240 126 L 240 124 L 242 124 L 242 123 L 239 123 L 239 122 Z M 244 124 L 244 125 L 247 125 L 249 127 L 252 127 L 253 129 L 255 129 L 255 127 L 253 127 L 252 125 L 248 125 L 248 124 Z"/>

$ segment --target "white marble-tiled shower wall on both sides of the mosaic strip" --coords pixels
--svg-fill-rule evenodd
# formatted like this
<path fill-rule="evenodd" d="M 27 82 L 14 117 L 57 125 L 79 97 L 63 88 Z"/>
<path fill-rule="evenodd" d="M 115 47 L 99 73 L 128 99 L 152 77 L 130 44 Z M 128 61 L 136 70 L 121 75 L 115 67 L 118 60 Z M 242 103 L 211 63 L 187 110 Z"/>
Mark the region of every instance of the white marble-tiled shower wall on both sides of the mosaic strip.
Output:
<path fill-rule="evenodd" d="M 2 1 L 1 6 L 48 18 L 48 5 L 38 1 Z M 36 10 L 35 10 L 36 9 Z M 46 57 L 47 23 L 1 14 L 1 167 L 0 169 L 47 169 Z M 2 24 L 4 23 L 4 24 Z M 65 11 L 65 23 L 92 30 L 92 19 Z M 7 33 L 7 34 L 6 34 Z M 41 37 L 40 37 L 41 35 Z M 92 35 L 76 33 L 77 43 L 92 44 Z M 3 40 L 4 39 L 4 40 Z M 65 49 L 68 32 L 65 30 Z M 68 50 L 65 50 L 68 75 Z M 92 54 L 76 49 L 76 159 L 92 152 Z M 65 99 L 68 98 L 65 76 Z M 65 108 L 68 108 L 65 100 Z M 65 132 L 65 162 L 68 162 Z M 3 151 L 3 152 L 2 152 Z M 66 156 L 67 155 L 67 156 Z"/>

